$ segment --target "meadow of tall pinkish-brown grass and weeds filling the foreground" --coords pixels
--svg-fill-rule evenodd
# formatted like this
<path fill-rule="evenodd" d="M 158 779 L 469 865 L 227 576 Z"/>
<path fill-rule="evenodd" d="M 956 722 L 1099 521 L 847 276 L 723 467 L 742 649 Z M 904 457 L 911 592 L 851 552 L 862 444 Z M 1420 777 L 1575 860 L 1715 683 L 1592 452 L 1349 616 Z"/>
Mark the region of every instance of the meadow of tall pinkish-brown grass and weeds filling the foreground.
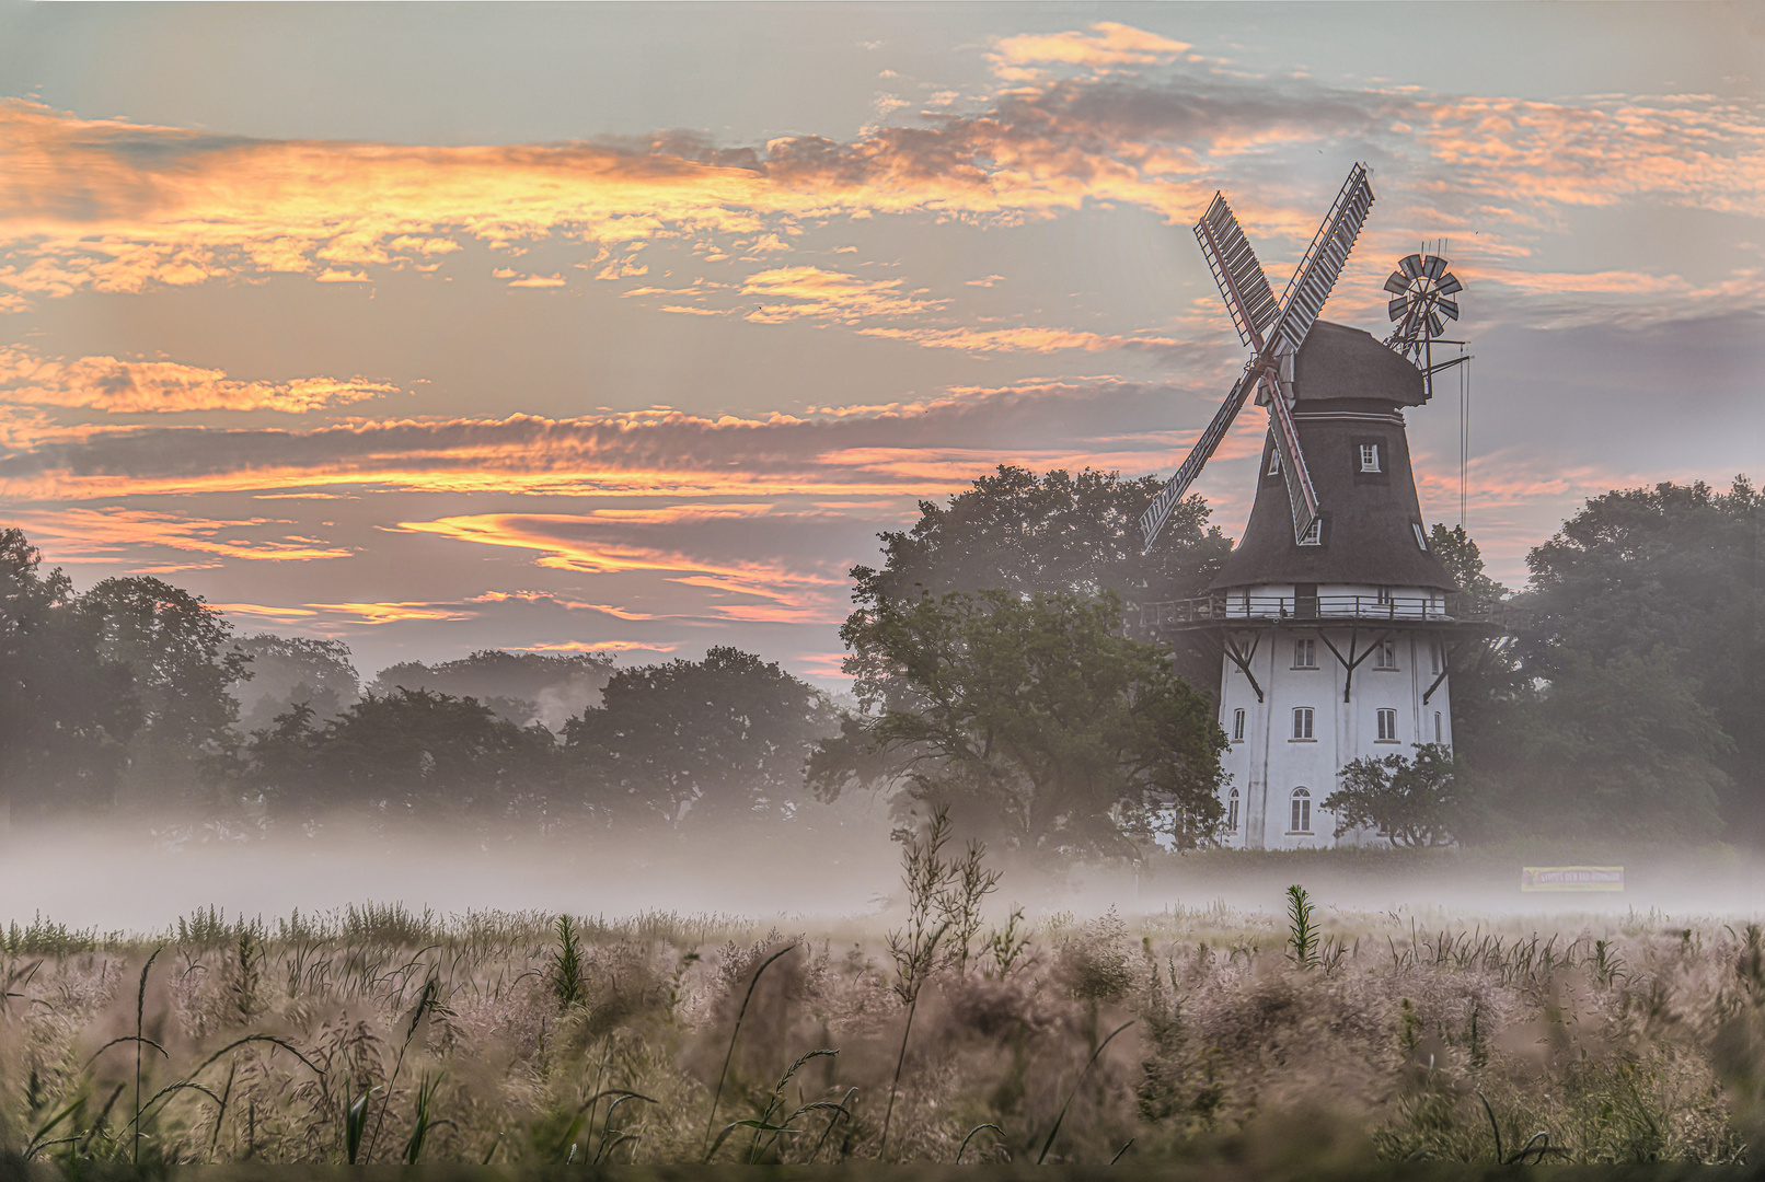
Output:
<path fill-rule="evenodd" d="M 1303 889 L 983 919 L 988 872 L 935 850 L 907 886 L 893 924 L 803 931 L 372 903 L 12 924 L 0 1154 L 1735 1164 L 1765 1117 L 1756 924 L 1491 924 Z"/>

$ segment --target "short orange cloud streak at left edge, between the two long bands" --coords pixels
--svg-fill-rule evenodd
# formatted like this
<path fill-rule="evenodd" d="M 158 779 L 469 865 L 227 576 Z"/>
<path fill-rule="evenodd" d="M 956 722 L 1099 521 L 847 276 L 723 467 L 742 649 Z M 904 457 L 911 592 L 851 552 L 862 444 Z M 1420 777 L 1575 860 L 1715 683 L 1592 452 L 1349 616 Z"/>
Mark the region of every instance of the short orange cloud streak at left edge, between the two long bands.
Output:
<path fill-rule="evenodd" d="M 90 408 L 109 413 L 284 411 L 399 393 L 397 386 L 353 378 L 240 381 L 217 369 L 115 356 L 44 358 L 0 346 L 0 402 Z"/>

